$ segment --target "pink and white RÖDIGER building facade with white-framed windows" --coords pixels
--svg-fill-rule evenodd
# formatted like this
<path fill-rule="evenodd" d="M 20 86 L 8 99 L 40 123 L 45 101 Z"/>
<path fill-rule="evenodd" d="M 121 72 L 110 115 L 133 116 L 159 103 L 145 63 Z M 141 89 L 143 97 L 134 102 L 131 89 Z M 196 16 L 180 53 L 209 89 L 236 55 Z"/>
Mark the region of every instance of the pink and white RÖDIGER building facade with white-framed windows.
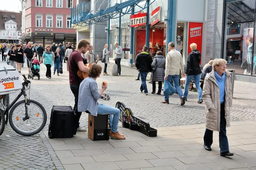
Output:
<path fill-rule="evenodd" d="M 76 44 L 76 30 L 72 28 L 70 9 L 76 0 L 26 0 L 23 2 L 23 42 L 52 45 Z M 25 12 L 25 14 L 24 14 Z"/>

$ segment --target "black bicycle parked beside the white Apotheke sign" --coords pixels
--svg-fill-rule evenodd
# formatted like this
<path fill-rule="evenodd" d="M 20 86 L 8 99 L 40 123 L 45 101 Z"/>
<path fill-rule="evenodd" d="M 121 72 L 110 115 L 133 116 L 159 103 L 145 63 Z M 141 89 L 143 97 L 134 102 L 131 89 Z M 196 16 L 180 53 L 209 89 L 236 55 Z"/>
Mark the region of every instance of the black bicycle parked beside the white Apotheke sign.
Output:
<path fill-rule="evenodd" d="M 3 105 L 0 100 L 0 135 L 2 135 L 5 128 L 5 115 L 9 112 L 9 122 L 12 129 L 23 136 L 32 136 L 39 133 L 45 126 L 47 121 L 47 113 L 44 107 L 37 101 L 27 98 L 26 91 L 30 89 L 30 81 L 26 79 L 22 83 L 22 89 L 20 94 L 14 99 L 14 101 L 7 107 Z M 24 100 L 19 102 L 21 96 L 24 96 Z M 17 102 L 17 103 L 16 103 Z"/>

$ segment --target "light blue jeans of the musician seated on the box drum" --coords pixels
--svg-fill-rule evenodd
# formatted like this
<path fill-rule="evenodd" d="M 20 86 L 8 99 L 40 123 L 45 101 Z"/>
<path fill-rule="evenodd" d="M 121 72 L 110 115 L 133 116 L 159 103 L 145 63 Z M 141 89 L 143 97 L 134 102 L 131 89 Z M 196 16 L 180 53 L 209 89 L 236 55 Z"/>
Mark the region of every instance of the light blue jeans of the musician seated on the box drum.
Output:
<path fill-rule="evenodd" d="M 112 127 L 111 130 L 113 133 L 117 132 L 117 126 L 120 117 L 120 111 L 118 108 L 113 108 L 112 106 L 103 105 L 101 103 L 98 104 L 98 114 L 105 115 L 110 114 L 113 115 Z M 111 120 L 111 119 L 110 119 Z"/>

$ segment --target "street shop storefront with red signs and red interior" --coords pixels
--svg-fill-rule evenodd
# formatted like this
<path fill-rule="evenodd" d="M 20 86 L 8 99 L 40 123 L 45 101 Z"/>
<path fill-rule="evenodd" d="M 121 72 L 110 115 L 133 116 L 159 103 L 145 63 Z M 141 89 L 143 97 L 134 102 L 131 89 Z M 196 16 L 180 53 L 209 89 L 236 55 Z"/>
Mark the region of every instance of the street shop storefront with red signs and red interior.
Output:
<path fill-rule="evenodd" d="M 188 7 L 186 8 L 197 8 L 196 13 L 193 15 L 189 14 L 189 9 L 184 9 L 184 3 L 188 4 Z M 144 6 L 144 4 L 145 1 L 142 1 L 140 2 L 139 5 Z M 166 48 L 168 48 L 169 43 L 166 42 L 168 28 L 168 22 L 165 20 L 168 16 L 167 4 L 168 0 L 156 0 L 154 3 L 150 5 L 150 10 L 148 14 L 150 17 L 149 53 L 152 56 L 155 56 L 158 50 L 163 51 L 163 55 L 166 56 Z M 204 0 L 198 0 L 198 2 L 191 2 L 190 0 L 180 0 L 177 1 L 176 5 L 176 29 L 174 30 L 176 37 L 176 40 L 174 40 L 175 48 L 177 51 L 180 51 L 180 53 L 183 56 L 183 62 L 184 64 L 186 64 L 187 55 L 191 51 L 191 49 L 188 48 L 190 43 L 197 43 L 198 50 L 203 52 L 203 16 L 205 11 L 204 6 L 206 4 L 204 3 Z M 146 10 L 143 10 L 139 13 L 136 11 L 140 11 L 140 8 L 135 7 L 134 15 L 126 14 L 121 17 L 121 44 L 119 44 L 123 49 L 121 65 L 130 65 L 129 63 L 131 56 L 129 55 L 129 40 L 131 40 L 131 27 L 134 27 L 133 62 L 135 62 L 137 54 L 139 54 L 143 50 L 143 46 L 146 45 L 146 23 L 144 19 Z M 119 42 L 119 30 L 119 19 L 111 19 L 109 45 L 113 51 L 111 57 L 115 57 L 114 51 L 116 47 L 114 46 L 114 43 Z M 202 64 L 204 65 L 204 63 Z"/>

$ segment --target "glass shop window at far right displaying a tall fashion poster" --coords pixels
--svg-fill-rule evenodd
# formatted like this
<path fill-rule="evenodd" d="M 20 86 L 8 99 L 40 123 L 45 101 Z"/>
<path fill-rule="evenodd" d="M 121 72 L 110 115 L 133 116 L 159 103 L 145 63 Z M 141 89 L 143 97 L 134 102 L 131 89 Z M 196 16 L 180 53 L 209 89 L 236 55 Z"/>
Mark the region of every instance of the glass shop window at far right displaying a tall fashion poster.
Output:
<path fill-rule="evenodd" d="M 236 74 L 256 76 L 256 0 L 226 0 L 224 59 Z"/>

